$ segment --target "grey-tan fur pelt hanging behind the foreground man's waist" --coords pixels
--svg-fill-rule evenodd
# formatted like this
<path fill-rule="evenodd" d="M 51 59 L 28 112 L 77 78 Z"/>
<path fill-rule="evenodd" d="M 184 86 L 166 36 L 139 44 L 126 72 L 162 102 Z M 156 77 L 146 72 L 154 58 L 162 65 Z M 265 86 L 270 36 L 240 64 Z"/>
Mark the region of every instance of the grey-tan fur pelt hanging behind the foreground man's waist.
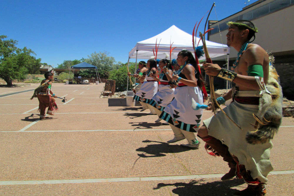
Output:
<path fill-rule="evenodd" d="M 265 86 L 271 94 L 263 91 L 259 99 L 258 113 L 253 114 L 259 122 L 257 129 L 249 131 L 246 135 L 246 141 L 250 144 L 263 144 L 273 139 L 282 121 L 282 87 L 277 71 L 273 66 L 269 67 L 268 83 Z"/>

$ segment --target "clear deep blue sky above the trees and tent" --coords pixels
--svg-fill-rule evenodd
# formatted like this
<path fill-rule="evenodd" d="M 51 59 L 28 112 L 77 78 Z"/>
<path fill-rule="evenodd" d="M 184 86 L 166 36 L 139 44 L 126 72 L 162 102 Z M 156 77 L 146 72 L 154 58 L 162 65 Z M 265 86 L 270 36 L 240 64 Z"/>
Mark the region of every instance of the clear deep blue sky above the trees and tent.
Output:
<path fill-rule="evenodd" d="M 116 61 L 126 63 L 138 41 L 172 25 L 191 34 L 213 2 L 216 7 L 209 20 L 221 20 L 246 6 L 245 0 L 0 0 L 0 35 L 17 40 L 19 48 L 31 48 L 42 63 L 54 67 L 64 60 L 87 58 L 95 51 L 107 51 Z"/>

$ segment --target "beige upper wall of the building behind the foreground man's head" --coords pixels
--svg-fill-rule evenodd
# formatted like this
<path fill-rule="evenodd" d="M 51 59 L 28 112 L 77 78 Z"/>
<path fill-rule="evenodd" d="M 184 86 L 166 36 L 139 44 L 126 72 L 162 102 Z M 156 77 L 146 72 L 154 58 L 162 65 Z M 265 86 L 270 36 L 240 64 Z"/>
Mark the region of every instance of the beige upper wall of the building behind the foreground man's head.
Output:
<path fill-rule="evenodd" d="M 258 6 L 269 3 L 270 1 L 264 1 Z M 234 21 L 233 19 L 236 16 L 244 14 L 248 11 L 256 9 L 256 6 L 253 6 L 245 11 L 242 11 L 238 14 L 232 15 L 223 21 Z M 253 19 L 251 22 L 258 28 L 258 33 L 255 33 L 255 40 L 253 43 L 256 43 L 263 47 L 268 52 L 287 54 L 286 51 L 289 51 L 288 54 L 294 54 L 294 36 L 292 35 L 294 31 L 294 4 L 285 9 L 281 9 L 270 13 L 260 18 Z M 221 21 L 221 22 L 223 22 Z M 210 28 L 218 28 L 217 24 L 211 25 Z M 209 36 L 209 41 L 226 43 L 226 33 L 228 31 L 221 31 L 221 36 L 219 33 Z M 237 56 L 237 51 L 233 48 L 230 50 L 230 58 L 235 58 Z"/>

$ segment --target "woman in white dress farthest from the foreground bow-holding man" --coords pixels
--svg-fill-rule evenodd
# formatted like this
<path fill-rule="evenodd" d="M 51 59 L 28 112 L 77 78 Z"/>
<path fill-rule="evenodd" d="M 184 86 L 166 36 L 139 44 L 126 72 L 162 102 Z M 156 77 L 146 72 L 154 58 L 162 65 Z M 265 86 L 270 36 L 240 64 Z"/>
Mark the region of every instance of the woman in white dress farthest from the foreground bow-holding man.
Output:
<path fill-rule="evenodd" d="M 156 77 L 158 75 L 157 68 L 156 68 L 156 61 L 154 61 L 153 59 L 149 59 L 147 61 L 147 68 L 148 68 L 148 71 L 147 73 L 145 72 L 146 73 L 145 79 L 147 81 L 145 81 L 142 84 L 141 89 L 134 96 L 134 100 L 139 101 L 141 105 L 143 106 L 143 109 L 141 110 L 141 112 L 148 108 L 147 103 L 158 91 L 158 82 L 150 76 L 150 74 Z M 130 75 L 130 73 L 128 73 L 128 75 Z M 150 112 L 149 114 L 152 114 L 152 112 Z"/>

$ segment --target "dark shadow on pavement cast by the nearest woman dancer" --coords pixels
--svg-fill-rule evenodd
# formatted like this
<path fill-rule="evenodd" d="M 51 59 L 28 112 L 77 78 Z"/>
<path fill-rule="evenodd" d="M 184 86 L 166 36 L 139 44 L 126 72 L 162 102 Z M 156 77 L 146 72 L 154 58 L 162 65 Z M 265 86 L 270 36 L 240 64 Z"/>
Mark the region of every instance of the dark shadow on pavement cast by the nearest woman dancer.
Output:
<path fill-rule="evenodd" d="M 151 141 L 151 140 L 144 140 L 142 141 L 144 143 L 150 143 L 150 142 L 157 142 L 160 144 L 150 144 L 146 147 L 141 147 L 136 149 L 136 151 L 144 152 L 141 154 L 138 154 L 139 157 L 142 158 L 148 158 L 148 157 L 163 157 L 166 156 L 166 154 L 163 153 L 181 153 L 185 152 L 191 149 L 183 148 L 180 145 L 172 145 L 166 142 L 158 142 L 158 141 Z M 150 156 L 146 155 L 149 154 Z"/>

